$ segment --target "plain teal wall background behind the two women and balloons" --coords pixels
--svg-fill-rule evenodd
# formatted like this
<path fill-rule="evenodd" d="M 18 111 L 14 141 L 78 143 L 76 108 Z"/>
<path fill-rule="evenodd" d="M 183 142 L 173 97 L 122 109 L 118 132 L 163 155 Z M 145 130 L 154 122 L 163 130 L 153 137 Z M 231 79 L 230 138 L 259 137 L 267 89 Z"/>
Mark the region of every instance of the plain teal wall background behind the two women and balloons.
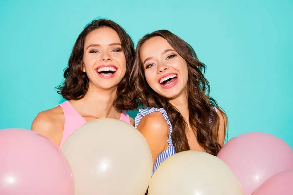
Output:
<path fill-rule="evenodd" d="M 38 112 L 63 102 L 54 87 L 96 17 L 120 24 L 135 44 L 154 30 L 174 32 L 207 65 L 228 139 L 263 131 L 293 147 L 292 0 L 1 1 L 0 129 L 29 129 Z"/>

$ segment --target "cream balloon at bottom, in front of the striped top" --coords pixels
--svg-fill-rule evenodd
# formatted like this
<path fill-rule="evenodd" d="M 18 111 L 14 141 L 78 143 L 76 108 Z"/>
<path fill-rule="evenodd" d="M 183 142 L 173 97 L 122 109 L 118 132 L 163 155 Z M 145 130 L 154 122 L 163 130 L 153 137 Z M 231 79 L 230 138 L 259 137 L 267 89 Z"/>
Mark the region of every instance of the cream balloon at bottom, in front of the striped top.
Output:
<path fill-rule="evenodd" d="M 155 171 L 148 195 L 243 195 L 240 182 L 216 156 L 184 151 L 167 158 Z"/>

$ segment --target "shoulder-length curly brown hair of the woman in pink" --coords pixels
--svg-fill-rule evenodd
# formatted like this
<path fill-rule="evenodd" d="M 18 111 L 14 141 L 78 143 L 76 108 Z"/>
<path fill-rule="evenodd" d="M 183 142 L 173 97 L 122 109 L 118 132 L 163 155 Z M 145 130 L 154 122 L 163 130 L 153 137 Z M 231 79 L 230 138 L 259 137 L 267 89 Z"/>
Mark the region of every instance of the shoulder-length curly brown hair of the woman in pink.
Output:
<path fill-rule="evenodd" d="M 117 23 L 107 20 L 107 19 L 99 19 L 93 20 L 89 23 L 84 30 L 78 36 L 69 61 L 68 67 L 64 70 L 64 78 L 65 81 L 63 85 L 59 85 L 57 87 L 58 94 L 61 94 L 63 98 L 70 100 L 78 100 L 85 96 L 88 86 L 89 79 L 82 71 L 83 67 L 83 55 L 84 55 L 84 42 L 86 36 L 93 30 L 109 27 L 115 30 L 121 40 L 122 50 L 124 52 L 126 58 L 126 72 L 124 78 L 117 86 L 117 97 L 114 101 L 114 106 L 117 110 L 125 110 L 123 105 L 123 99 L 125 94 L 127 93 L 126 89 L 129 89 L 129 75 L 133 66 L 134 61 L 134 44 L 130 36 L 126 33 L 126 31 Z"/>

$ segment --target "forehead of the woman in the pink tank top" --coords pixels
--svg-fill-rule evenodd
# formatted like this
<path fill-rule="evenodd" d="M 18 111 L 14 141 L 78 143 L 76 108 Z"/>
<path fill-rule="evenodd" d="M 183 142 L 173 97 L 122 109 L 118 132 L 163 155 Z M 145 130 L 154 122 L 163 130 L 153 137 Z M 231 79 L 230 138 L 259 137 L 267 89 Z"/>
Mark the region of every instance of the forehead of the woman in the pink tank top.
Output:
<path fill-rule="evenodd" d="M 118 33 L 109 27 L 102 27 L 91 31 L 85 38 L 85 45 L 121 43 Z"/>

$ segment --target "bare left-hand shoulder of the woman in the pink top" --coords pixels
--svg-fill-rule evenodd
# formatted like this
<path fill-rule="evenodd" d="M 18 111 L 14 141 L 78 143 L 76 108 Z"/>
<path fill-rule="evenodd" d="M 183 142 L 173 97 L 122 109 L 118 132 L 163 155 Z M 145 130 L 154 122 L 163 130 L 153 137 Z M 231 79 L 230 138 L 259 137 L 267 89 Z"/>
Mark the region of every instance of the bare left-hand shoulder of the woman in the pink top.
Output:
<path fill-rule="evenodd" d="M 38 113 L 31 130 L 48 137 L 59 145 L 64 128 L 64 113 L 60 106 Z"/>

